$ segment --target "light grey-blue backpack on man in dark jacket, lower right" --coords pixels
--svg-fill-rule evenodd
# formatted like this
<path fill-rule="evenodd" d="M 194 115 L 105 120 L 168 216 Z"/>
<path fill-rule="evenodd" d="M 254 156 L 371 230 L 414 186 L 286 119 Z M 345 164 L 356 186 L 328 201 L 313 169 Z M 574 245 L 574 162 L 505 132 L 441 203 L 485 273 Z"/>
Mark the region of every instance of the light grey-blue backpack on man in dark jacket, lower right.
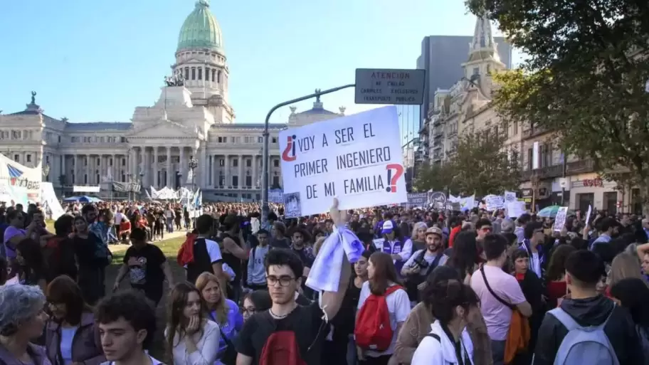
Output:
<path fill-rule="evenodd" d="M 568 334 L 561 341 L 559 351 L 554 357 L 555 365 L 592 364 L 592 365 L 620 365 L 618 356 L 613 350 L 608 336 L 604 332 L 606 323 L 611 319 L 611 314 L 598 326 L 582 327 L 560 307 L 551 310 L 559 322 L 568 329 Z"/>

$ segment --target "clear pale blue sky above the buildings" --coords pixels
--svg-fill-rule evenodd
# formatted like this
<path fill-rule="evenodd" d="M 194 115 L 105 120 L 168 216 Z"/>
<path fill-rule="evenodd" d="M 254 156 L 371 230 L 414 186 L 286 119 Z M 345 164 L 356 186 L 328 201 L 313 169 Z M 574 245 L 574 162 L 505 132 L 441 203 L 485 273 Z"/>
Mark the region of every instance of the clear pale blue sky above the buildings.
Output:
<path fill-rule="evenodd" d="M 210 5 L 223 32 L 237 123 L 262 123 L 280 102 L 354 83 L 356 68 L 415 68 L 424 36 L 472 36 L 475 25 L 462 0 Z M 0 1 L 0 110 L 23 110 L 34 90 L 51 117 L 130 121 L 134 107 L 159 98 L 179 30 L 193 9 L 194 0 Z M 346 114 L 376 107 L 355 105 L 353 89 L 322 102 L 332 111 L 347 107 Z M 308 110 L 312 101 L 295 106 Z M 284 107 L 270 121 L 283 123 L 288 115 Z"/>

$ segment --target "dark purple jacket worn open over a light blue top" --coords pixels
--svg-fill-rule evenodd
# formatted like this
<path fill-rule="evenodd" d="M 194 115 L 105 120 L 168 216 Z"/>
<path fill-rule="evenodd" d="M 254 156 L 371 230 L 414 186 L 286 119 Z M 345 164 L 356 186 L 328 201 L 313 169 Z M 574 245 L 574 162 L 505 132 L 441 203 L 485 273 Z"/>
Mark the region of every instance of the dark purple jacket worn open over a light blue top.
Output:
<path fill-rule="evenodd" d="M 45 329 L 45 349 L 53 365 L 65 365 L 60 356 L 60 324 L 48 320 Z M 79 329 L 72 339 L 72 361 L 84 365 L 98 365 L 106 361 L 101 347 L 99 329 L 95 327 L 95 316 L 84 312 Z"/>

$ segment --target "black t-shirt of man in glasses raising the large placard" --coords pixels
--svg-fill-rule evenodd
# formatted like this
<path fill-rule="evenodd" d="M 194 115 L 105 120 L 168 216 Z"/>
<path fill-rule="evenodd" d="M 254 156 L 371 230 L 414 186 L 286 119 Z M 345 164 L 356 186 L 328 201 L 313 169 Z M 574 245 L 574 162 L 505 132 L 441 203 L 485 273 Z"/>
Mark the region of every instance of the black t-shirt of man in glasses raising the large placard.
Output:
<path fill-rule="evenodd" d="M 253 314 L 253 317 L 243 324 L 235 340 L 236 350 L 240 354 L 252 357 L 253 365 L 259 364 L 261 351 L 270 334 L 292 331 L 295 332 L 302 360 L 307 365 L 320 365 L 322 346 L 327 337 L 324 315 L 317 302 L 308 306 L 298 305 L 282 319 L 270 317 L 268 311 Z"/>

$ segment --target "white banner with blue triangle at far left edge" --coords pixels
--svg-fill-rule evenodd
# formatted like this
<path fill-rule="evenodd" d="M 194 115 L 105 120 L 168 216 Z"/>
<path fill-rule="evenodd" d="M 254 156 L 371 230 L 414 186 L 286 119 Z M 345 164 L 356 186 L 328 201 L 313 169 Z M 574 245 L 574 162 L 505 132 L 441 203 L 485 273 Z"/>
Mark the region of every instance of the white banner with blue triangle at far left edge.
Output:
<path fill-rule="evenodd" d="M 19 200 L 16 203 L 25 205 L 28 202 L 40 202 L 42 180 L 43 169 L 40 165 L 33 168 L 23 166 L 0 154 L 0 181 L 4 186 L 11 187 L 12 194 Z M 26 196 L 27 201 L 23 201 L 23 196 Z"/>

